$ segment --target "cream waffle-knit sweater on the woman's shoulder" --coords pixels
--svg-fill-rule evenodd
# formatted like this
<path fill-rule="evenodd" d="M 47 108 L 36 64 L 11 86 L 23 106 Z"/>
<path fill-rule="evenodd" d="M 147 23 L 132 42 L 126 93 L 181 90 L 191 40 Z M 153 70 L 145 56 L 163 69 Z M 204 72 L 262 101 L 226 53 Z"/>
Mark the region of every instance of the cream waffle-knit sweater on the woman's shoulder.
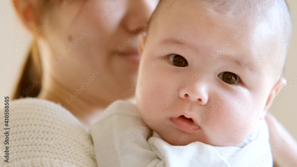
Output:
<path fill-rule="evenodd" d="M 61 105 L 37 98 L 10 101 L 7 127 L 3 103 L 4 98 L 0 107 L 1 167 L 97 166 L 91 136 Z M 8 144 L 4 144 L 7 131 Z M 7 146 L 9 163 L 4 161 Z"/>

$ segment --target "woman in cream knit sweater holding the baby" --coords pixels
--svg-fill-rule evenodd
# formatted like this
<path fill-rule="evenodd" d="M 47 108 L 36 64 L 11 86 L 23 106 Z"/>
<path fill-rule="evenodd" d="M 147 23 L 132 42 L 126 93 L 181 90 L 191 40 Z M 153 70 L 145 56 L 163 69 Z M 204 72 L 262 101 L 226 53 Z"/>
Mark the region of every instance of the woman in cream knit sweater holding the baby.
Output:
<path fill-rule="evenodd" d="M 146 21 L 157 3 L 157 0 L 16 3 L 22 22 L 36 36 L 14 97 L 37 98 L 12 102 L 10 120 L 15 130 L 10 138 L 16 142 L 10 147 L 10 164 L 100 164 L 96 163 L 92 140 L 85 130 L 112 101 L 134 95 L 131 90 L 139 62 L 137 35 L 146 30 Z M 33 90 L 27 91 L 33 84 L 36 85 L 31 87 Z M 284 128 L 272 118 L 267 116 L 271 139 L 275 139 L 271 144 L 277 144 Z M 290 139 L 277 151 L 291 152 L 275 154 L 276 164 L 296 163 L 292 159 L 285 161 L 295 155 L 290 146 L 297 144 Z M 0 145 L 1 152 L 6 146 Z"/>

